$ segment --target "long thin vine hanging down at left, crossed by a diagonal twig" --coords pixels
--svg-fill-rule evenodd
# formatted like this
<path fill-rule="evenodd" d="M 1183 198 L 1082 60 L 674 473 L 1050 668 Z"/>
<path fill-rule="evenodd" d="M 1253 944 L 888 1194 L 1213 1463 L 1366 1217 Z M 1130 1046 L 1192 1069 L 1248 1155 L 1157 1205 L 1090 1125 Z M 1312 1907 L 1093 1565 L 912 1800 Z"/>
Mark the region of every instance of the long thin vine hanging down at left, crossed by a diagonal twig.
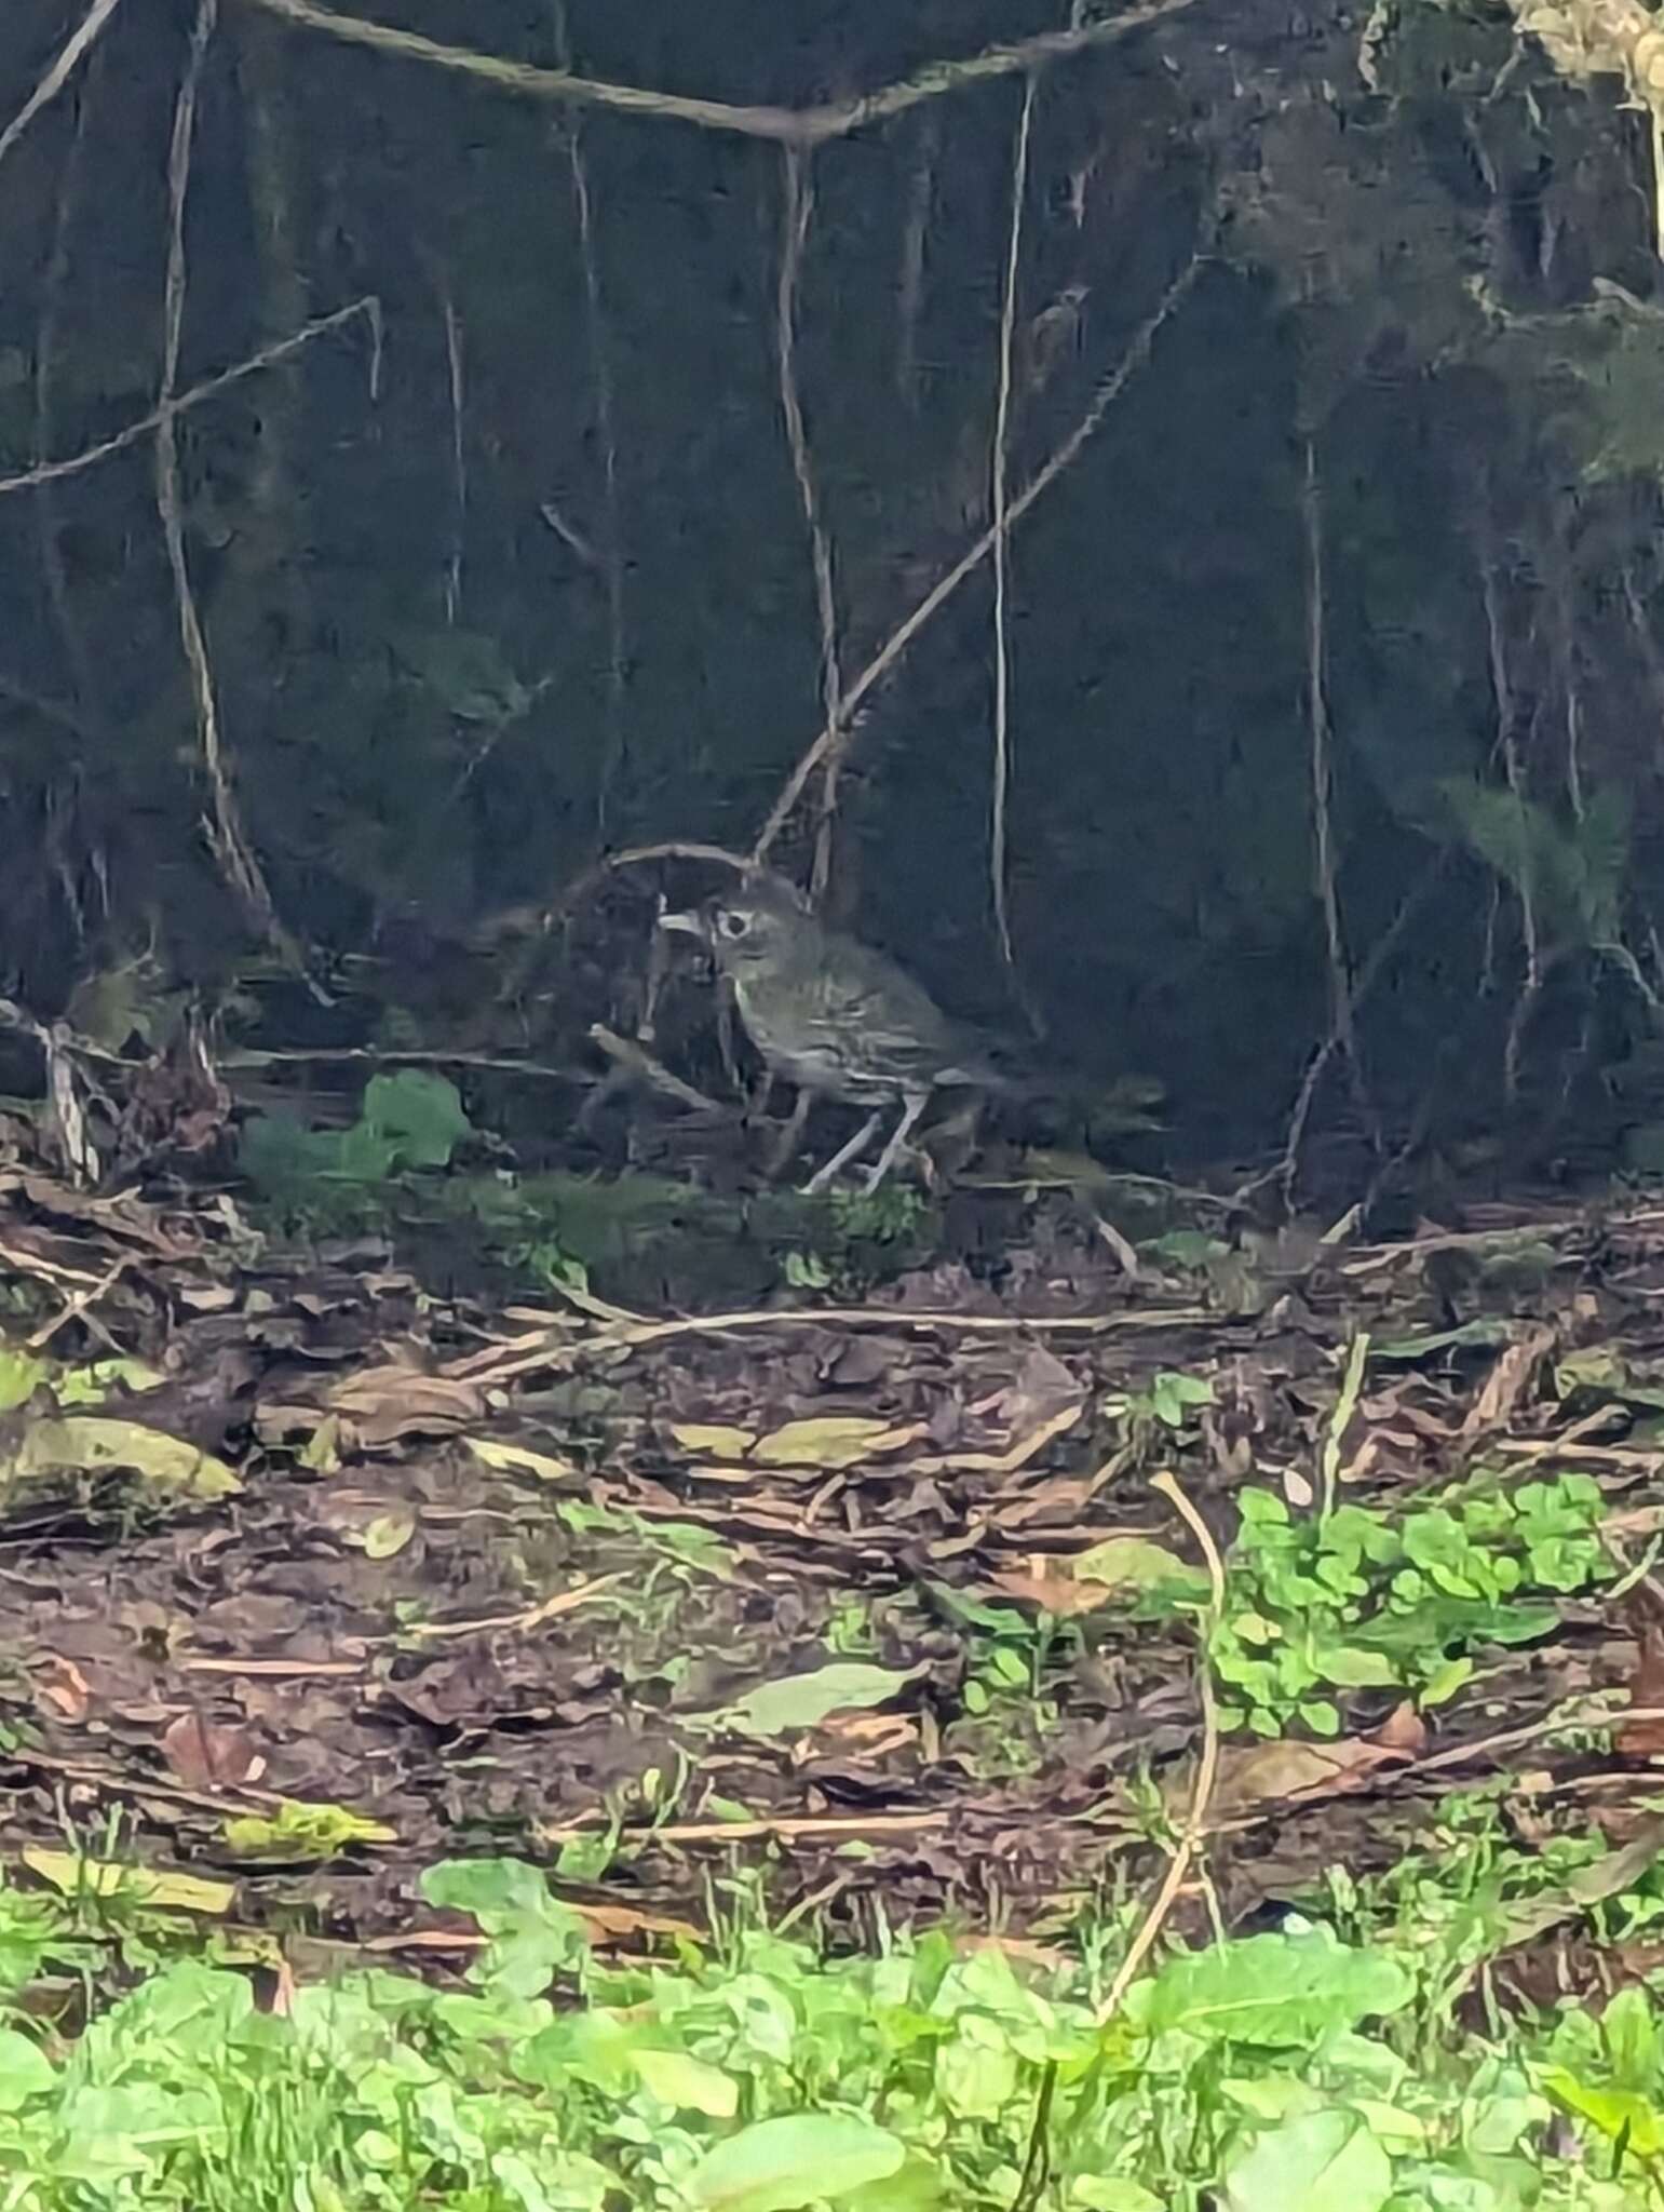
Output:
<path fill-rule="evenodd" d="M 303 967 L 299 947 L 288 938 L 277 918 L 272 894 L 261 874 L 261 865 L 243 834 L 237 814 L 237 796 L 230 785 L 230 770 L 219 732 L 219 703 L 215 699 L 215 677 L 208 666 L 208 641 L 197 615 L 197 599 L 190 591 L 190 568 L 186 564 L 186 531 L 179 507 L 179 436 L 175 416 L 168 409 L 179 380 L 179 336 L 186 314 L 186 192 L 190 188 L 190 139 L 197 124 L 197 93 L 208 58 L 208 42 L 219 20 L 219 0 L 197 0 L 197 20 L 190 31 L 190 53 L 179 82 L 179 100 L 173 111 L 173 146 L 168 150 L 168 274 L 162 314 L 162 396 L 155 447 L 157 511 L 162 535 L 168 546 L 168 568 L 173 571 L 173 595 L 179 608 L 179 641 L 190 668 L 190 688 L 197 703 L 197 730 L 201 739 L 201 765 L 208 776 L 212 821 L 208 843 L 219 867 L 257 922 L 261 933 L 277 945 L 294 967 Z"/>

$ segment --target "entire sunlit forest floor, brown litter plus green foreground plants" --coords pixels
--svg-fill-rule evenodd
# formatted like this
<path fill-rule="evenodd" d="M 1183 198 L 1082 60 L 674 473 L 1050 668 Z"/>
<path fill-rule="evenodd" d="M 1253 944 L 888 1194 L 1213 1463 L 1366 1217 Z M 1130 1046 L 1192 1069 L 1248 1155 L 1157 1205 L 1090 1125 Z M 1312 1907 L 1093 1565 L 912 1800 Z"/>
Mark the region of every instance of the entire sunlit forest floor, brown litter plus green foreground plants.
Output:
<path fill-rule="evenodd" d="M 1664 2203 L 1664 1206 L 699 1318 L 0 1208 L 9 2212 Z"/>

